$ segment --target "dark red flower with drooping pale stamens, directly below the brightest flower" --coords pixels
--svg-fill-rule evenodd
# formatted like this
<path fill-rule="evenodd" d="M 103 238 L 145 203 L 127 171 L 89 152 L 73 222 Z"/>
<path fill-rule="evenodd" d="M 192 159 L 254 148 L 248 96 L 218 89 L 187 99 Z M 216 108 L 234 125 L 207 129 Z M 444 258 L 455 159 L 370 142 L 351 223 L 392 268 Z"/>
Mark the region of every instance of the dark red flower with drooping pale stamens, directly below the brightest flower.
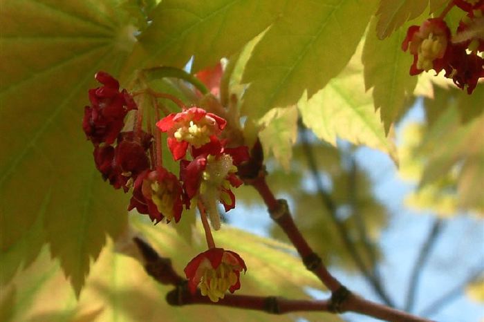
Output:
<path fill-rule="evenodd" d="M 235 207 L 235 196 L 231 187 L 243 182 L 236 176 L 237 165 L 249 159 L 247 146 L 225 149 L 218 140 L 212 140 L 202 149 L 196 149 L 194 160 L 182 160 L 180 178 L 189 199 L 198 196 L 215 230 L 220 229 L 217 200 L 225 211 Z"/>

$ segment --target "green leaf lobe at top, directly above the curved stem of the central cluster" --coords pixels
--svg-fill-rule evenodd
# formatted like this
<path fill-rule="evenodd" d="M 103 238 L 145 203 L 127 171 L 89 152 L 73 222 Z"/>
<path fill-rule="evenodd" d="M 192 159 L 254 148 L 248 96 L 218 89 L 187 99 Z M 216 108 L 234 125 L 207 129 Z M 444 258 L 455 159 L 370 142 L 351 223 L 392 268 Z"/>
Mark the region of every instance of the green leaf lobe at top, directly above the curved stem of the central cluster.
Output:
<path fill-rule="evenodd" d="M 124 75 L 158 65 L 182 68 L 194 55 L 197 71 L 229 57 L 270 26 L 279 14 L 275 0 L 164 0 L 150 14 Z"/>

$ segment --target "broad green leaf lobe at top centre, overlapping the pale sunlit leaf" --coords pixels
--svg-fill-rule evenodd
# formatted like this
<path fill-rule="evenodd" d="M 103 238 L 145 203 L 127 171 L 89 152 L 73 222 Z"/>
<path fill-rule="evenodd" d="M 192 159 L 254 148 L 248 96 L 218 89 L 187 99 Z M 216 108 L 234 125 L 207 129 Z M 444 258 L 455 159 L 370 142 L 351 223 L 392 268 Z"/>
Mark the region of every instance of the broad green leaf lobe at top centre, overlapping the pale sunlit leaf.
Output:
<path fill-rule="evenodd" d="M 323 88 L 348 63 L 375 1 L 288 1 L 257 43 L 243 82 L 251 83 L 242 113 L 254 120 Z"/>

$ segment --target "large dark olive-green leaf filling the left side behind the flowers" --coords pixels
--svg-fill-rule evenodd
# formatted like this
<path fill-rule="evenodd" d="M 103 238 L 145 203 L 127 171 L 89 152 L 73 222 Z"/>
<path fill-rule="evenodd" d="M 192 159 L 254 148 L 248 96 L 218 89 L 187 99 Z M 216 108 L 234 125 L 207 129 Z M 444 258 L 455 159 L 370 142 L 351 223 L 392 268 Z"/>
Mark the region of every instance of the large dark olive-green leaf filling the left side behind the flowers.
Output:
<path fill-rule="evenodd" d="M 94 167 L 83 106 L 93 75 L 116 73 L 124 61 L 133 29 L 118 1 L 1 6 L 0 131 L 8 140 L 0 157 L 0 248 L 16 254 L 9 265 L 18 267 L 48 241 L 78 294 L 106 234 L 117 235 L 127 218 L 127 199 Z"/>

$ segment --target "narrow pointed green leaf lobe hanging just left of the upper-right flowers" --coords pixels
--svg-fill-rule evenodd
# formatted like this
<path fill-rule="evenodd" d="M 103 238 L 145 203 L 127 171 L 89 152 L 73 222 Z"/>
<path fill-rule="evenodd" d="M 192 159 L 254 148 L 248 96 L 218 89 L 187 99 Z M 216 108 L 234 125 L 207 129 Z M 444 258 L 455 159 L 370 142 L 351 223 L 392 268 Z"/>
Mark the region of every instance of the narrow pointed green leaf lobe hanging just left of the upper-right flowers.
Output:
<path fill-rule="evenodd" d="M 380 108 L 388 133 L 405 99 L 413 95 L 418 77 L 409 74 L 413 56 L 401 48 L 407 28 L 400 28 L 381 41 L 373 32 L 375 27 L 376 19 L 373 19 L 363 49 L 364 80 L 366 89 L 373 88 L 375 108 Z"/>

